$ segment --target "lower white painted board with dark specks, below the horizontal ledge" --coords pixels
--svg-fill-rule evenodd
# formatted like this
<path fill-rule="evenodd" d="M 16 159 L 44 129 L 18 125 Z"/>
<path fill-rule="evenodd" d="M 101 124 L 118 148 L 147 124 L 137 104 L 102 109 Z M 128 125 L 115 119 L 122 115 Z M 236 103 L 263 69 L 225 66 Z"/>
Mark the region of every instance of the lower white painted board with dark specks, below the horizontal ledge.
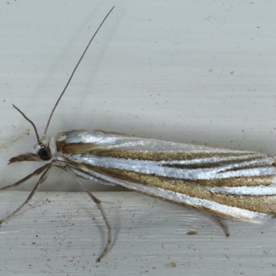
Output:
<path fill-rule="evenodd" d="M 1 193 L 1 217 L 27 195 Z M 208 215 L 181 206 L 130 192 L 95 195 L 112 224 L 112 246 L 100 263 L 106 226 L 86 194 L 39 192 L 1 225 L 0 274 L 275 275 L 274 225 L 225 221 L 225 237 Z"/>

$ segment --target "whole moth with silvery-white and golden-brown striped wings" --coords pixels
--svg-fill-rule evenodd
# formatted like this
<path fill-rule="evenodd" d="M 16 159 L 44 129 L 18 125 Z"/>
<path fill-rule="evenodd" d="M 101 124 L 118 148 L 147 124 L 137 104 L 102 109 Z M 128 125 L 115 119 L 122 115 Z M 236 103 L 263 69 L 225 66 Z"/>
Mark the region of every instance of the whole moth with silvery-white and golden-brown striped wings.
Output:
<path fill-rule="evenodd" d="M 266 222 L 275 217 L 276 159 L 273 156 L 245 150 L 160 141 L 103 130 L 70 130 L 53 136 L 46 135 L 52 114 L 81 59 L 52 109 L 42 137 L 39 137 L 34 123 L 14 106 L 32 124 L 37 144 L 32 152 L 12 157 L 9 164 L 19 161 L 48 163 L 17 183 L 0 189 L 19 186 L 35 175 L 41 175 L 26 201 L 0 223 L 10 219 L 32 199 L 53 166 L 72 175 L 103 216 L 108 228 L 108 239 L 97 262 L 108 252 L 111 226 L 101 201 L 90 193 L 80 178 L 123 186 L 215 217 L 252 223 Z"/>

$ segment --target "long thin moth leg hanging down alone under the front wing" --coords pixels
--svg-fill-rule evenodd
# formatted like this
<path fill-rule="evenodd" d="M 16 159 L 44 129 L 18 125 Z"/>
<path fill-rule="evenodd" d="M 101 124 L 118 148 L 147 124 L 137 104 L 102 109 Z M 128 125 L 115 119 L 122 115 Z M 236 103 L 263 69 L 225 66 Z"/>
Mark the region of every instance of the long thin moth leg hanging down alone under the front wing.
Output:
<path fill-rule="evenodd" d="M 86 191 L 86 193 L 89 195 L 90 199 L 92 199 L 92 201 L 95 202 L 97 208 L 101 211 L 101 215 L 103 216 L 104 221 L 106 222 L 106 227 L 108 228 L 108 240 L 106 242 L 106 247 L 103 249 L 103 252 L 101 253 L 101 255 L 99 255 L 98 259 L 96 260 L 96 262 L 100 262 L 101 259 L 104 257 L 104 255 L 106 255 L 106 253 L 108 252 L 108 248 L 111 244 L 111 226 L 110 226 L 110 223 L 108 221 L 108 217 L 106 216 L 106 212 L 103 210 L 103 206 L 101 205 L 101 201 L 99 199 L 97 199 L 97 197 L 92 195 L 90 190 L 88 190 L 86 188 L 86 186 L 84 186 L 81 183 L 81 181 L 79 180 L 79 178 L 77 178 L 77 176 L 72 171 L 70 166 L 66 165 L 64 168 L 70 173 L 70 175 L 72 175 L 72 177 L 74 177 L 76 179 L 77 183 L 81 186 L 81 188 L 83 188 L 83 190 Z"/>

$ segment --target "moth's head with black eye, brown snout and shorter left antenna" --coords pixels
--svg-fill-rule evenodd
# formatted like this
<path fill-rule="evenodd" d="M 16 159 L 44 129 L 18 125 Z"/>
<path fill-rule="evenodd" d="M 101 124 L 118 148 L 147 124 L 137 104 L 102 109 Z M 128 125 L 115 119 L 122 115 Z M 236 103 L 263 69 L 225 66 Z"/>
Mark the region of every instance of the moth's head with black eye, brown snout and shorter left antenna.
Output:
<path fill-rule="evenodd" d="M 14 106 L 14 105 L 13 105 Z M 14 106 L 14 108 L 16 108 L 21 115 L 23 115 L 23 117 L 25 119 L 27 119 L 30 124 L 32 124 L 33 128 L 34 128 L 34 132 L 37 135 L 37 144 L 34 146 L 33 148 L 33 152 L 27 152 L 27 153 L 23 153 L 23 155 L 17 155 L 16 157 L 12 157 L 9 160 L 8 164 L 12 164 L 15 162 L 21 162 L 21 161 L 48 161 L 52 158 L 52 153 L 50 150 L 50 139 L 48 139 L 48 137 L 46 137 L 46 135 L 43 135 L 42 139 L 39 138 L 38 132 L 37 132 L 37 128 L 34 125 L 34 123 L 28 119 L 28 117 L 26 117 L 26 115 L 19 110 L 19 108 L 17 108 L 16 106 Z"/>

